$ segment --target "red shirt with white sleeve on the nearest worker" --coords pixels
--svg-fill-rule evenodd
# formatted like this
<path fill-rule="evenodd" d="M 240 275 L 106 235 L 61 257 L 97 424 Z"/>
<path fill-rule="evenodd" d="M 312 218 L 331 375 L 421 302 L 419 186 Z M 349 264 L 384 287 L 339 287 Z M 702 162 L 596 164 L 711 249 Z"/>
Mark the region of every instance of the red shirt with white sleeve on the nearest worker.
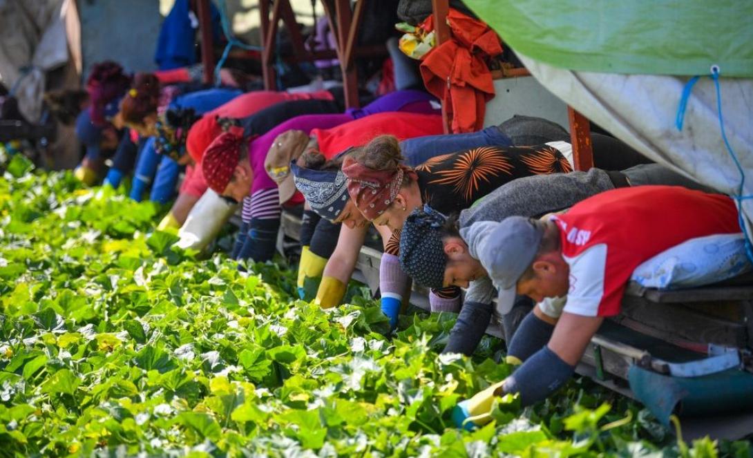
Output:
<path fill-rule="evenodd" d="M 733 200 L 678 186 L 606 191 L 553 220 L 570 267 L 564 311 L 620 313 L 627 281 L 642 262 L 696 237 L 740 231 Z"/>

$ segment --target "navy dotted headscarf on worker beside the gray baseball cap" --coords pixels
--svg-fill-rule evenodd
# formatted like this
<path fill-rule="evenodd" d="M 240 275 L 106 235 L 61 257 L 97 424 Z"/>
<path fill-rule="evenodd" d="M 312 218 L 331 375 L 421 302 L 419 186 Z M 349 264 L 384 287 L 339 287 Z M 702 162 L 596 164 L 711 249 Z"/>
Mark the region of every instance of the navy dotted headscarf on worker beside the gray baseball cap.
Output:
<path fill-rule="evenodd" d="M 447 218 L 425 205 L 410 212 L 400 237 L 400 265 L 419 285 L 432 289 L 444 286 L 444 254 L 442 225 Z"/>

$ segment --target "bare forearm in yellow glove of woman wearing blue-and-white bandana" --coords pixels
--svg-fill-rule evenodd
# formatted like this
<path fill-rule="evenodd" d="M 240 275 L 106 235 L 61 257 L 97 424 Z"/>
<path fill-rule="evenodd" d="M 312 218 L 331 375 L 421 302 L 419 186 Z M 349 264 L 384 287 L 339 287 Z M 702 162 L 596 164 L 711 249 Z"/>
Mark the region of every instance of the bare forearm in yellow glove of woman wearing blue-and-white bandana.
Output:
<path fill-rule="evenodd" d="M 358 252 L 364 244 L 368 227 L 351 229 L 342 227 L 337 247 L 325 267 L 322 283 L 316 293 L 316 304 L 323 308 L 335 307 L 343 301 L 346 285 L 358 260 Z"/>

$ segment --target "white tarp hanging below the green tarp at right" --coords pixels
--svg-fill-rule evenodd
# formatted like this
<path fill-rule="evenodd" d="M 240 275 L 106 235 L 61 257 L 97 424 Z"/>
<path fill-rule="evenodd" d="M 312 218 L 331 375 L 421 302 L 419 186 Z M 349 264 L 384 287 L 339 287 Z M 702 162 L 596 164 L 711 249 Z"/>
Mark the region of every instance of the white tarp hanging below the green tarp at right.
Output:
<path fill-rule="evenodd" d="M 739 195 L 742 176 L 721 136 L 712 78 L 700 78 L 693 87 L 678 130 L 678 105 L 690 78 L 572 72 L 519 56 L 547 90 L 641 154 L 718 191 Z M 724 130 L 745 173 L 742 195 L 750 196 L 753 80 L 719 78 L 719 84 Z M 753 199 L 742 202 L 742 214 L 753 237 Z"/>

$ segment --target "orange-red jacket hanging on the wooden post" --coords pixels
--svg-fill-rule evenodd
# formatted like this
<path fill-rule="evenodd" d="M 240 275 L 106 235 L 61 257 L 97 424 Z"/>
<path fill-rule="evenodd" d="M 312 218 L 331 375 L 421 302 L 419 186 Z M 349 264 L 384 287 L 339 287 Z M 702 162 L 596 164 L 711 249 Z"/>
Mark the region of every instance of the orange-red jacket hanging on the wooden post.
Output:
<path fill-rule="evenodd" d="M 486 102 L 494 98 L 492 74 L 483 58 L 497 56 L 502 47 L 486 23 L 450 9 L 451 38 L 435 47 L 421 63 L 428 92 L 444 103 L 453 133 L 483 127 Z M 431 16 L 422 26 L 431 26 Z"/>

